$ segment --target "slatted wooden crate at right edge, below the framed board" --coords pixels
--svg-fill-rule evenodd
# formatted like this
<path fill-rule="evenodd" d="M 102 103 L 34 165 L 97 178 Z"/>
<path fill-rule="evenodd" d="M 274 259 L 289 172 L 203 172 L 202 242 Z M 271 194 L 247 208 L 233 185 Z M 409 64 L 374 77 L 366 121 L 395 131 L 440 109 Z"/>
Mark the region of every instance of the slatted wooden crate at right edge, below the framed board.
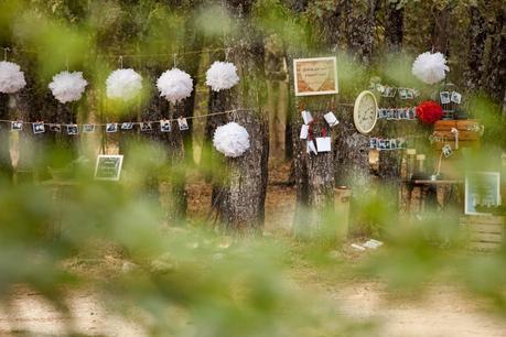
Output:
<path fill-rule="evenodd" d="M 505 218 L 497 216 L 462 216 L 461 230 L 470 249 L 498 249 L 505 237 Z"/>

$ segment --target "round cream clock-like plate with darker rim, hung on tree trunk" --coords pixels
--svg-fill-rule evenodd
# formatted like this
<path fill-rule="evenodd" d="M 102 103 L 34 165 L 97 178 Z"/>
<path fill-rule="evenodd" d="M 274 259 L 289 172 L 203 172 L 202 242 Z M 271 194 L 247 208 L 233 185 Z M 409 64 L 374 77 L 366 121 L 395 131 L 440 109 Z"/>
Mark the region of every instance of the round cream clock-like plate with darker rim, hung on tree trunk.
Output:
<path fill-rule="evenodd" d="M 353 109 L 355 128 L 360 133 L 373 131 L 378 120 L 378 102 L 373 93 L 365 90 L 358 95 Z"/>

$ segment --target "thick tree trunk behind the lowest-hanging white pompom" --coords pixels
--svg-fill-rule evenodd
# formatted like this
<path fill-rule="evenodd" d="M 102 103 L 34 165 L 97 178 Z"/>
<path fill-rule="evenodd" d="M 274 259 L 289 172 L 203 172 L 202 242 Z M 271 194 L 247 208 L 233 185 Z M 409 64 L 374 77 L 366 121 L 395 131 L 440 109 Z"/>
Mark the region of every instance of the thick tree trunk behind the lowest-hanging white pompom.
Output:
<path fill-rule="evenodd" d="M 213 203 L 224 230 L 240 235 L 261 233 L 269 156 L 268 124 L 261 109 L 266 91 L 263 41 L 248 20 L 251 7 L 252 1 L 227 2 L 237 23 L 235 34 L 227 36 L 227 44 L 234 47 L 229 56 L 237 66 L 240 81 L 229 93 L 211 97 L 212 111 L 245 109 L 232 119 L 248 131 L 250 149 L 240 157 L 224 159 L 226 177 L 215 182 L 213 191 Z"/>

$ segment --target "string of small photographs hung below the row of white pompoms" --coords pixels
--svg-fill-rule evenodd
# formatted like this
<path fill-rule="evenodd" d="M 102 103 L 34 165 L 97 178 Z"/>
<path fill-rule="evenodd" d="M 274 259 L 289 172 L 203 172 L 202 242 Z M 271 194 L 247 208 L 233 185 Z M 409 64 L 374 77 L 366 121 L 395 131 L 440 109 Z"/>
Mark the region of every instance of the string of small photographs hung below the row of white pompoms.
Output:
<path fill-rule="evenodd" d="M 131 121 L 126 121 L 126 122 L 112 122 L 112 123 L 85 123 L 85 124 L 77 124 L 77 123 L 46 123 L 43 121 L 36 121 L 36 122 L 24 122 L 24 121 L 19 121 L 19 120 L 0 120 L 0 122 L 9 123 L 11 131 L 22 131 L 24 128 L 24 124 L 32 126 L 32 131 L 34 134 L 40 134 L 44 132 L 65 132 L 69 135 L 75 135 L 82 133 L 93 133 L 99 128 L 105 128 L 106 133 L 115 133 L 118 132 L 119 130 L 122 131 L 128 131 L 128 130 L 133 130 L 136 127 L 139 128 L 141 132 L 150 132 L 154 130 L 154 126 L 159 126 L 160 132 L 171 132 L 172 129 L 172 123 L 176 122 L 177 128 L 181 131 L 189 130 L 189 119 L 196 119 L 196 118 L 206 118 L 206 117 L 212 117 L 212 116 L 218 116 L 218 115 L 228 115 L 228 113 L 236 113 L 239 111 L 246 111 L 245 109 L 234 109 L 234 110 L 227 110 L 227 111 L 219 111 L 219 112 L 213 112 L 213 113 L 207 113 L 207 115 L 200 115 L 200 116 L 192 116 L 192 117 L 179 117 L 176 119 L 162 119 L 162 120 L 157 120 L 157 121 L 141 121 L 141 122 L 131 122 Z"/>

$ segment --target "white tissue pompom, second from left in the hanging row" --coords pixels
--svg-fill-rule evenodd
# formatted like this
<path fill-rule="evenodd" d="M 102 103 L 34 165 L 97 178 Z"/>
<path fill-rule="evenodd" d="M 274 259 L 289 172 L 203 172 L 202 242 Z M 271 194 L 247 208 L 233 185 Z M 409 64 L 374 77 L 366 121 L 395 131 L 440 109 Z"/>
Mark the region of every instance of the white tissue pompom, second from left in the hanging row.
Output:
<path fill-rule="evenodd" d="M 88 81 L 83 78 L 82 72 L 62 72 L 53 76 L 49 87 L 54 98 L 63 104 L 79 100 Z"/>

